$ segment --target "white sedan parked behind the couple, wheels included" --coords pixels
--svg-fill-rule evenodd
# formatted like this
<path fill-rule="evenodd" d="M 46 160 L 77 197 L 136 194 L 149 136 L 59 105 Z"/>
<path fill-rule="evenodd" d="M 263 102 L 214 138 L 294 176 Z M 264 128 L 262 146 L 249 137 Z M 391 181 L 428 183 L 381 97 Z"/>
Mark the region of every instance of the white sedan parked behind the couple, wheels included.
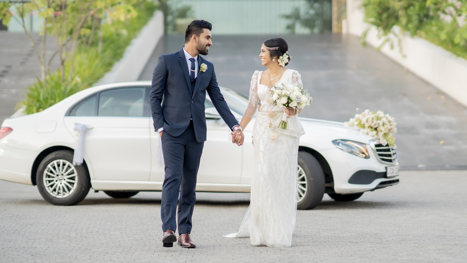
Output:
<path fill-rule="evenodd" d="M 161 191 L 164 163 L 159 134 L 149 108 L 150 81 L 87 88 L 41 112 L 7 118 L 0 130 L 0 179 L 37 185 L 54 205 L 74 205 L 90 188 L 125 198 Z M 221 88 L 240 121 L 248 99 Z M 207 140 L 197 191 L 249 192 L 253 176 L 255 117 L 243 146 L 232 144 L 230 129 L 206 96 Z M 338 201 L 399 183 L 396 150 L 375 144 L 343 123 L 300 118 L 297 207 L 311 209 L 324 193 Z M 82 165 L 73 166 L 74 124 L 87 126 Z"/>

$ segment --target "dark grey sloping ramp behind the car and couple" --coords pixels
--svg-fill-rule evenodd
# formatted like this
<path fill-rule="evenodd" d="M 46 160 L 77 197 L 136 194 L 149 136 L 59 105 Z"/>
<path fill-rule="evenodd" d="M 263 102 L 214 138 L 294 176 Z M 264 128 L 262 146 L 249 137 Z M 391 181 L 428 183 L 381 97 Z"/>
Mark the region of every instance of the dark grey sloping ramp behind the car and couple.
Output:
<path fill-rule="evenodd" d="M 214 64 L 219 85 L 248 96 L 251 75 L 266 69 L 258 55 L 261 43 L 270 37 L 281 36 L 214 35 L 205 58 Z M 354 117 L 356 108 L 358 113 L 382 110 L 397 122 L 401 168 L 467 169 L 467 109 L 453 98 L 374 48 L 362 47 L 357 37 L 282 37 L 292 57 L 287 68 L 301 73 L 315 101 L 301 116 L 343 122 Z M 151 80 L 157 58 L 183 44 L 183 36 L 165 36 L 140 79 Z M 439 144 L 442 140 L 444 145 Z"/>

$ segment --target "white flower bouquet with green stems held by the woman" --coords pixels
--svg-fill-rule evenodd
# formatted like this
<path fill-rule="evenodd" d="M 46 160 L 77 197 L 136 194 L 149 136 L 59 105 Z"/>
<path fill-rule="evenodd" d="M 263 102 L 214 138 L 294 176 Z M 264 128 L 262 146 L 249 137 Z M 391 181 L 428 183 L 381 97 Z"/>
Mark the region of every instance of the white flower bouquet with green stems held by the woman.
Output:
<path fill-rule="evenodd" d="M 309 106 L 313 99 L 302 86 L 282 83 L 269 89 L 273 105 L 290 107 L 293 109 Z M 287 114 L 284 112 L 279 128 L 287 129 Z"/>

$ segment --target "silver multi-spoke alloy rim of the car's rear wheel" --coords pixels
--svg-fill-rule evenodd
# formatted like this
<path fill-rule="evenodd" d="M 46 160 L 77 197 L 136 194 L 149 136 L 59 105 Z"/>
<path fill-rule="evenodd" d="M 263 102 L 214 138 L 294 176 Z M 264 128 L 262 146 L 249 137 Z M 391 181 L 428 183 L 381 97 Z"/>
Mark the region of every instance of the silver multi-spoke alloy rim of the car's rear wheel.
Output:
<path fill-rule="evenodd" d="M 66 160 L 54 160 L 43 173 L 44 187 L 56 198 L 69 197 L 78 186 L 76 168 Z"/>

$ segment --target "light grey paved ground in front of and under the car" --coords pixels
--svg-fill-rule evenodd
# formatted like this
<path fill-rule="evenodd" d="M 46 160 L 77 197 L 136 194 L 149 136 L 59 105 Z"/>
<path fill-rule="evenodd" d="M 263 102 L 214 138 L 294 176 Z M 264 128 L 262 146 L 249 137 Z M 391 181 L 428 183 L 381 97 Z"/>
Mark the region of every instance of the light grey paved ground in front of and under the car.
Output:
<path fill-rule="evenodd" d="M 290 248 L 222 237 L 240 226 L 249 194 L 198 193 L 195 249 L 162 247 L 158 192 L 90 192 L 54 206 L 35 186 L 0 181 L 0 262 L 466 262 L 467 171 L 403 171 L 400 180 L 297 211 Z"/>

